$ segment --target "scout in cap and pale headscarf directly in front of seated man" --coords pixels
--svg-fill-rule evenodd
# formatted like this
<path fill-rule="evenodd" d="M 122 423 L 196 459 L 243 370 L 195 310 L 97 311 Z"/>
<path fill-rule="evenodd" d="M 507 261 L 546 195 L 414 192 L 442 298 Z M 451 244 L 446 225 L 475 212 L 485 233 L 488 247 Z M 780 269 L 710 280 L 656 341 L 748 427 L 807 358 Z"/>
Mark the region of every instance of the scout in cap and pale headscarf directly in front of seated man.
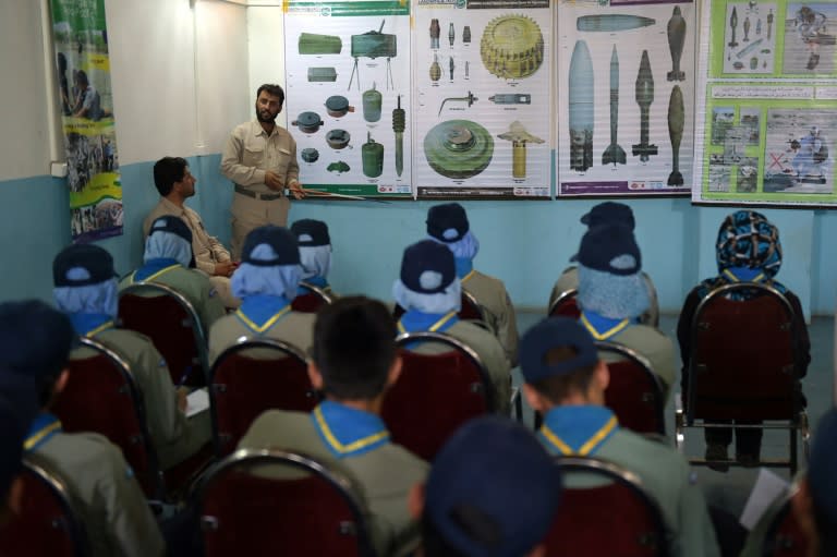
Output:
<path fill-rule="evenodd" d="M 143 266 L 123 278 L 119 288 L 121 290 L 136 282 L 159 282 L 171 287 L 192 303 L 204 330 L 209 330 L 226 311 L 209 277 L 194 267 L 192 231 L 178 217 L 160 217 L 151 222 L 145 240 Z"/>

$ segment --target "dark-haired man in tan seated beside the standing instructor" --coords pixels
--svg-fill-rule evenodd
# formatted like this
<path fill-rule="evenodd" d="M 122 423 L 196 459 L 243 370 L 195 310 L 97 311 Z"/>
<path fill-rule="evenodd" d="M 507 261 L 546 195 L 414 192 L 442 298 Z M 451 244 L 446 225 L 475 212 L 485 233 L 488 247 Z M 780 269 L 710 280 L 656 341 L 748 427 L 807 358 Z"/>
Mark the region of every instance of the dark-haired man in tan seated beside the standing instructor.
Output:
<path fill-rule="evenodd" d="M 143 235 L 148 238 L 151 222 L 167 215 L 179 217 L 192 231 L 192 252 L 195 266 L 209 275 L 223 305 L 235 308 L 241 303 L 230 293 L 230 277 L 235 265 L 230 252 L 217 238 L 207 233 L 201 216 L 184 202 L 195 195 L 197 180 L 189 171 L 189 164 L 180 157 L 162 157 L 154 165 L 154 185 L 160 201 L 143 221 Z"/>

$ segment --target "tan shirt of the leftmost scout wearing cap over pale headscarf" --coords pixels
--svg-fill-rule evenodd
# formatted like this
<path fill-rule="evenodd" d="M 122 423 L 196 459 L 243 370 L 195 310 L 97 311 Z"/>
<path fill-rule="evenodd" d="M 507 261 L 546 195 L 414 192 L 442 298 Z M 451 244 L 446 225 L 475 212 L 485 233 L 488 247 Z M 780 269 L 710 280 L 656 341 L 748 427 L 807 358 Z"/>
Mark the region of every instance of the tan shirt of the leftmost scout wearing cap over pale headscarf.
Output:
<path fill-rule="evenodd" d="M 209 441 L 209 413 L 201 412 L 187 419 L 178 408 L 177 391 L 166 360 L 148 337 L 133 330 L 106 329 L 94 338 L 128 362 L 143 396 L 148 434 L 161 469 L 182 462 Z M 90 349 L 81 347 L 70 353 L 70 359 L 81 360 L 90 355 Z"/>

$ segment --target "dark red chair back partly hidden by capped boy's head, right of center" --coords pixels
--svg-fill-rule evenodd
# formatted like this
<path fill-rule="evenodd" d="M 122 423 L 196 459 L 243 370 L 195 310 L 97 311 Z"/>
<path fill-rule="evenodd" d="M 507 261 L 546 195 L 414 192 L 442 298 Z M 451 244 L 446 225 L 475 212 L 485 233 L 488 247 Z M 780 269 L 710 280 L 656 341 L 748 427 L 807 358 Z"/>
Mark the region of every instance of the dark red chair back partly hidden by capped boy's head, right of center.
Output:
<path fill-rule="evenodd" d="M 618 342 L 599 340 L 599 353 L 621 358 L 607 362 L 610 383 L 605 389 L 605 405 L 616 413 L 619 425 L 638 433 L 666 434 L 663 385 L 645 356 Z"/>

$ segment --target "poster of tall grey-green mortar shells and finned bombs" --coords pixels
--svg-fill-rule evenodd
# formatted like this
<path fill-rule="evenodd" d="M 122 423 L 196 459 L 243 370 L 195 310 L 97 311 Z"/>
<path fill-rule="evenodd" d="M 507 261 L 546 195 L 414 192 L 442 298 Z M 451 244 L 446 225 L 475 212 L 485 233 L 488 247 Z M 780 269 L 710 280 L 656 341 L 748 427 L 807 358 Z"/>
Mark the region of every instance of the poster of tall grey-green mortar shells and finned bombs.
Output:
<path fill-rule="evenodd" d="M 557 11 L 557 195 L 688 195 L 695 3 L 563 0 Z"/>

